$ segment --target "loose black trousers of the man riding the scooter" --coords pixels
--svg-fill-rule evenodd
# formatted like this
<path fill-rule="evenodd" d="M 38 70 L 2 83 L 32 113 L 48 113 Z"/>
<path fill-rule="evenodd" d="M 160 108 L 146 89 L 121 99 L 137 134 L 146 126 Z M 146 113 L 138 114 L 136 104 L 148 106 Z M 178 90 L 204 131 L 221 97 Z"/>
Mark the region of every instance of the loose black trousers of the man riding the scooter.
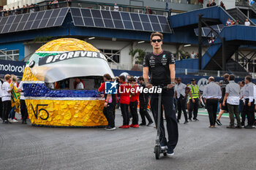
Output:
<path fill-rule="evenodd" d="M 164 120 L 161 112 L 160 120 L 160 142 L 167 144 L 168 148 L 174 149 L 178 143 L 178 123 L 176 120 L 176 112 L 173 104 L 173 89 L 162 90 L 162 105 L 165 109 L 165 120 L 167 124 L 168 142 L 165 137 L 165 126 Z M 150 104 L 154 115 L 154 120 L 157 125 L 157 115 L 158 115 L 158 94 L 152 94 Z"/>

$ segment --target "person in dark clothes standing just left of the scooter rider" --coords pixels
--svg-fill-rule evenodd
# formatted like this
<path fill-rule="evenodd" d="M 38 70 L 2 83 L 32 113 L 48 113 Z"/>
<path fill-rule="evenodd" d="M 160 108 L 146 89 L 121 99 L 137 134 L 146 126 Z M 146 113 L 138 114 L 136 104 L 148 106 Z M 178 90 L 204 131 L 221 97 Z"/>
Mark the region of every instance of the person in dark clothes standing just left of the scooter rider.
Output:
<path fill-rule="evenodd" d="M 146 88 L 146 84 L 144 82 L 143 77 L 138 78 L 138 82 L 140 83 L 140 87 Z M 151 116 L 148 114 L 148 93 L 140 93 L 139 99 L 140 99 L 140 117 L 141 117 L 141 123 L 140 125 L 146 125 L 146 118 L 148 120 L 148 125 L 153 124 L 153 120 L 151 119 Z M 145 118 L 146 117 L 146 118 Z"/>

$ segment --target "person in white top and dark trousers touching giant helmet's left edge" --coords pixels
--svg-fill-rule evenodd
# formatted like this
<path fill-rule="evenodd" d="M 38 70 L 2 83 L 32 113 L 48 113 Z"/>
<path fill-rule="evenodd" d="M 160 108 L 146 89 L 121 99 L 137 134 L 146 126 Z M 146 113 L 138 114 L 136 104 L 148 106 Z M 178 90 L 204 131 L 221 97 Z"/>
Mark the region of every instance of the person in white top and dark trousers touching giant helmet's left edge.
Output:
<path fill-rule="evenodd" d="M 20 112 L 22 118 L 22 124 L 26 124 L 26 119 L 28 117 L 28 110 L 26 107 L 25 97 L 24 97 L 23 81 L 20 82 L 18 86 L 18 92 L 20 93 Z"/>

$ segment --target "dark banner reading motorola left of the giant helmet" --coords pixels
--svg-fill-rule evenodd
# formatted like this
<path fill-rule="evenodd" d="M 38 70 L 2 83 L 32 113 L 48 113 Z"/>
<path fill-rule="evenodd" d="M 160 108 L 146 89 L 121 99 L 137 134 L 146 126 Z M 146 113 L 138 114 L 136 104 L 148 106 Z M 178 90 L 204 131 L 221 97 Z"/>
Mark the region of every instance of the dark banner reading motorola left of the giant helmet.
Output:
<path fill-rule="evenodd" d="M 15 74 L 22 77 L 26 66 L 26 62 L 23 61 L 6 61 L 0 60 L 0 74 Z"/>

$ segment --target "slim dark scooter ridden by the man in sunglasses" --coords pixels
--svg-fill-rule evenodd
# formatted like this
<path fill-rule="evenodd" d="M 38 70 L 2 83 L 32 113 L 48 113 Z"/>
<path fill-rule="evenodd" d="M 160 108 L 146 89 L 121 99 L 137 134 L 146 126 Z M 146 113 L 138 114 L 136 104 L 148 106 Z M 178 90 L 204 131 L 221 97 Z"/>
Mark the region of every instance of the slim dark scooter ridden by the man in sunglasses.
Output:
<path fill-rule="evenodd" d="M 160 86 L 158 86 L 158 88 L 160 88 Z M 154 147 L 154 153 L 156 155 L 156 159 L 159 159 L 161 153 L 165 156 L 167 155 L 167 149 L 162 150 L 160 145 L 160 139 L 159 139 L 160 138 L 160 119 L 161 119 L 161 109 L 162 109 L 161 103 L 162 103 L 162 93 L 159 93 L 158 111 L 157 111 L 157 140 L 156 140 L 156 145 Z"/>

